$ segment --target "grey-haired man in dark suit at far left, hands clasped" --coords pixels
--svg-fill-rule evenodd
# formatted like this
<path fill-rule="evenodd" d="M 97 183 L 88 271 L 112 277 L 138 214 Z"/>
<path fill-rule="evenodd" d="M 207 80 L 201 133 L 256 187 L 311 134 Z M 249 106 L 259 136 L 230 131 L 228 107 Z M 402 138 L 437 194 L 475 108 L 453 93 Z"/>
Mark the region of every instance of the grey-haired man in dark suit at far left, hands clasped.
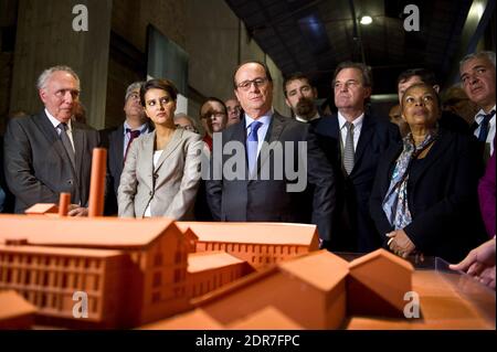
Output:
<path fill-rule="evenodd" d="M 15 213 L 36 203 L 59 203 L 71 193 L 70 216 L 87 215 L 93 149 L 98 132 L 72 121 L 80 78 L 67 66 L 50 67 L 38 78 L 44 109 L 10 120 L 4 137 L 4 171 L 15 196 Z"/>

